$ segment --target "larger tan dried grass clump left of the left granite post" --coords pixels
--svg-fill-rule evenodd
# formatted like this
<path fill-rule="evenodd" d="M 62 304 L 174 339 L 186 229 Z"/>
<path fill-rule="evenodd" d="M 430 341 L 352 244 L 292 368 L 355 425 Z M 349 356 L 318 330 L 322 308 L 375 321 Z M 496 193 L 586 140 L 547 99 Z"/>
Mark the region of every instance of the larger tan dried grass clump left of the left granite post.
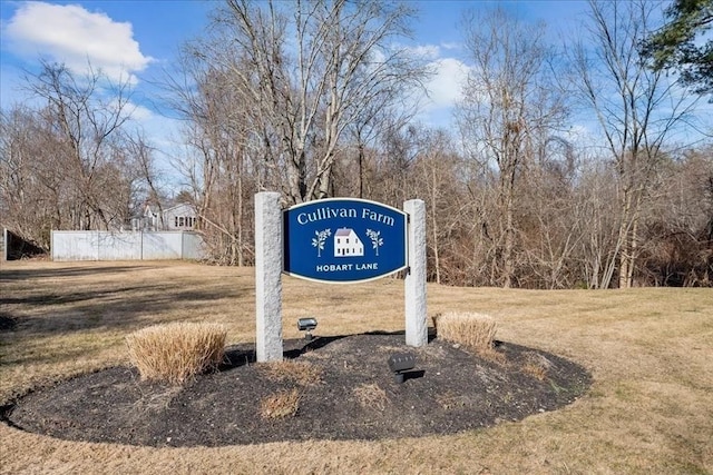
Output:
<path fill-rule="evenodd" d="M 183 384 L 223 362 L 226 335 L 218 324 L 176 323 L 134 331 L 126 344 L 141 379 Z"/>

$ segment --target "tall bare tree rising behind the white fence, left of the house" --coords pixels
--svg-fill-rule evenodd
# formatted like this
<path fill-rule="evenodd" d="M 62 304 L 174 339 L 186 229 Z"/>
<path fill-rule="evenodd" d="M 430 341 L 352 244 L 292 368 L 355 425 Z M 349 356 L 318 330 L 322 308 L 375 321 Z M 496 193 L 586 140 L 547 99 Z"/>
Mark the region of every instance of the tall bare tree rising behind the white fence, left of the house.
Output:
<path fill-rule="evenodd" d="M 121 194 L 125 180 L 117 158 L 121 130 L 129 120 L 128 81 L 113 83 L 100 71 L 78 77 L 64 65 L 42 62 L 39 75 L 27 87 L 46 101 L 42 110 L 53 138 L 51 160 L 57 174 L 72 184 L 71 226 L 75 229 L 108 229 L 123 225 L 126 210 Z M 129 179 L 130 181 L 130 179 Z M 118 204 L 118 206 L 117 206 Z"/>

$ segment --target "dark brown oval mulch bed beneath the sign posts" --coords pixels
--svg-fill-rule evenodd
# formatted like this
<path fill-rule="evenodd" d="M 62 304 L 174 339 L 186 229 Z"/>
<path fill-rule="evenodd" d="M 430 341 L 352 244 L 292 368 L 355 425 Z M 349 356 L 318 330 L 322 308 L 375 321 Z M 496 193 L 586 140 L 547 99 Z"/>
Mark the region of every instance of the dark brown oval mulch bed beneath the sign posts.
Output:
<path fill-rule="evenodd" d="M 25 431 L 71 441 L 149 446 L 221 446 L 304 439 L 379 439 L 450 434 L 554 410 L 590 385 L 580 366 L 544 352 L 498 343 L 482 358 L 438 338 L 423 348 L 403 334 L 286 340 L 285 357 L 321 369 L 303 384 L 270 377 L 254 347 L 229 347 L 217 372 L 182 387 L 141 382 L 115 367 L 36 390 L 6 407 Z M 387 364 L 416 356 L 402 384 Z M 497 355 L 496 355 L 497 356 Z M 261 402 L 297 388 L 296 414 L 263 418 Z"/>

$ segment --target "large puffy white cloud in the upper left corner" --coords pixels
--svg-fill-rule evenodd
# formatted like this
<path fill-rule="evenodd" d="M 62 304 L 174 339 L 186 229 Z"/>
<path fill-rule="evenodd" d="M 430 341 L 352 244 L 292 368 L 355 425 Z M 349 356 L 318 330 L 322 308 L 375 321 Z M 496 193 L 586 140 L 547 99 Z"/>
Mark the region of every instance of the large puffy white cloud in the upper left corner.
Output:
<path fill-rule="evenodd" d="M 80 6 L 23 3 L 3 29 L 11 52 L 64 62 L 75 72 L 86 71 L 89 61 L 114 80 L 136 82 L 133 72 L 153 60 L 139 50 L 131 23 L 116 22 Z"/>

